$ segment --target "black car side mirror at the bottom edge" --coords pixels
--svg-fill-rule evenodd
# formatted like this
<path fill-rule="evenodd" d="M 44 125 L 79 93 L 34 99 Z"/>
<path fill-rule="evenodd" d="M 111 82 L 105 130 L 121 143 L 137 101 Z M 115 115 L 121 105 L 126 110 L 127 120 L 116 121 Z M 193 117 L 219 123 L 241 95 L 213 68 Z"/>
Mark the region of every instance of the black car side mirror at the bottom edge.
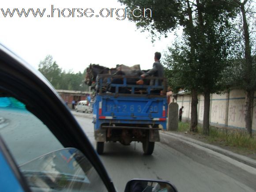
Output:
<path fill-rule="evenodd" d="M 169 181 L 132 179 L 126 184 L 124 192 L 177 192 L 177 188 Z"/>

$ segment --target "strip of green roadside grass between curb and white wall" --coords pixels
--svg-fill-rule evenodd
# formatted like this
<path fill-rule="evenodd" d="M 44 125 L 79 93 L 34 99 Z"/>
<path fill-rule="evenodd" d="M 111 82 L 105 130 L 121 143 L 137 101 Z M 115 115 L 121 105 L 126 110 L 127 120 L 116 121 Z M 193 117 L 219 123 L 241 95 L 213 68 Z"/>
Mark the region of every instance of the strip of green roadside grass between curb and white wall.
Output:
<path fill-rule="evenodd" d="M 189 123 L 179 122 L 178 132 L 189 132 Z M 210 143 L 219 143 L 226 146 L 256 151 L 256 135 L 253 134 L 251 138 L 245 130 L 210 127 L 209 136 L 204 136 L 203 128 L 198 126 L 198 133 L 196 134 L 203 136 Z"/>

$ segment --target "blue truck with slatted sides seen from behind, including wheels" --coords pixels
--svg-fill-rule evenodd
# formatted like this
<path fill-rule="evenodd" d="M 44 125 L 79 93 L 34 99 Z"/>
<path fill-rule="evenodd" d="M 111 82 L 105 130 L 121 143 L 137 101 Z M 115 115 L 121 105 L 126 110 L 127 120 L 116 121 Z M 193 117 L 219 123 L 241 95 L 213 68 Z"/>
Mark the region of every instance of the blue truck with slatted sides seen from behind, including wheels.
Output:
<path fill-rule="evenodd" d="M 119 79 L 119 81 L 113 81 Z M 133 83 L 129 84 L 129 79 Z M 130 145 L 141 142 L 144 154 L 152 154 L 159 130 L 166 130 L 166 79 L 138 76 L 98 75 L 93 105 L 96 151 L 103 154 L 105 142 Z M 114 83 L 118 82 L 118 83 Z M 109 91 L 111 90 L 111 92 Z"/>

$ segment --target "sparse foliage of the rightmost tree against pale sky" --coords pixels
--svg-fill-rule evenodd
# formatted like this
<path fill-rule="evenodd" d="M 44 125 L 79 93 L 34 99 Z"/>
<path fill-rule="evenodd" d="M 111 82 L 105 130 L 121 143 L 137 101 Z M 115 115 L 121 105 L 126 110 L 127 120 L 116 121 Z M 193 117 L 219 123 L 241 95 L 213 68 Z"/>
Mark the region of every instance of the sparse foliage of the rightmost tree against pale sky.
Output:
<path fill-rule="evenodd" d="M 244 90 L 256 90 L 256 10 L 252 5 L 252 0 L 233 0 L 240 9 L 240 15 L 237 18 L 237 33 L 234 38 L 237 39 L 236 57 L 231 68 L 231 83 Z M 237 70 L 238 69 L 238 70 Z"/>

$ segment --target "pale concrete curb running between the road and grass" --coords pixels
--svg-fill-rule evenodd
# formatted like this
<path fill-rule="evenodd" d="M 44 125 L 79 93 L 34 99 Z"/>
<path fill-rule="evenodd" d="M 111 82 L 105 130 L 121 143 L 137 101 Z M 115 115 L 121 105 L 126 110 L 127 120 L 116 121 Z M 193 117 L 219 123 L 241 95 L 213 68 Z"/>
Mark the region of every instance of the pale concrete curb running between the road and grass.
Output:
<path fill-rule="evenodd" d="M 211 145 L 211 144 L 208 144 L 208 143 L 203 143 L 203 142 L 198 141 L 196 139 L 192 139 L 192 138 L 189 138 L 189 137 L 186 137 L 186 136 L 182 136 L 182 135 L 179 135 L 179 134 L 176 134 L 176 133 L 172 133 L 172 132 L 167 132 L 167 131 L 160 132 L 160 135 L 162 135 L 163 137 L 170 136 L 170 137 L 172 137 L 174 139 L 176 138 L 176 139 L 179 139 L 181 141 L 183 140 L 183 141 L 185 141 L 185 143 L 193 144 L 193 146 L 195 146 L 195 144 L 196 144 L 196 145 L 199 145 L 201 147 L 205 147 L 205 148 L 210 149 L 212 151 L 215 151 L 215 152 L 217 152 L 219 154 L 222 154 L 222 155 L 230 157 L 230 158 L 232 158 L 234 160 L 237 160 L 238 162 L 241 162 L 241 163 L 244 163 L 244 164 L 246 164 L 248 166 L 256 168 L 256 160 L 254 160 L 252 158 L 248 158 L 248 157 L 246 157 L 244 155 L 241 155 L 241 154 L 233 153 L 232 151 L 228 151 L 226 149 L 222 149 L 221 147 L 217 147 L 215 145 Z M 160 139 L 160 142 L 166 143 L 166 142 L 162 141 L 162 139 Z M 170 144 L 170 143 L 166 143 L 166 144 Z"/>

